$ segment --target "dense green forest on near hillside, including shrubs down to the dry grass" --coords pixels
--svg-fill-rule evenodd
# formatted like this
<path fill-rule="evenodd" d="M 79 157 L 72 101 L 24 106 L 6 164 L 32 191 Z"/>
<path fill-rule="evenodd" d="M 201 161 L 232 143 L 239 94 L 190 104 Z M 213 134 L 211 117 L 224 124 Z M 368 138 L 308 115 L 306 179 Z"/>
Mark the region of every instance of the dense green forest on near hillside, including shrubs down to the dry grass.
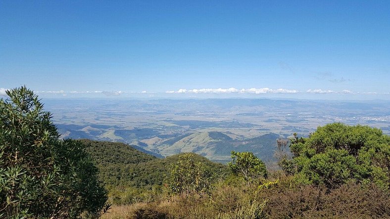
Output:
<path fill-rule="evenodd" d="M 99 178 L 109 190 L 112 204 L 130 204 L 152 200 L 163 190 L 163 182 L 177 165 L 182 154 L 164 159 L 153 157 L 119 142 L 80 140 L 87 146 L 99 168 Z M 194 163 L 201 163 L 218 177 L 228 175 L 225 165 L 217 164 L 197 154 L 191 154 Z"/>

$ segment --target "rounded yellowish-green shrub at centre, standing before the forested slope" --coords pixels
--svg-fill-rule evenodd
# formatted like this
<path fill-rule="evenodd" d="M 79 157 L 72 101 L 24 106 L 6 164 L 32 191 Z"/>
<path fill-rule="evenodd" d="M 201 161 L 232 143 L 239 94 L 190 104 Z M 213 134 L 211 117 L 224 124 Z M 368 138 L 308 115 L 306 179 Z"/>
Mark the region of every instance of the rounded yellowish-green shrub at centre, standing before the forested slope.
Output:
<path fill-rule="evenodd" d="M 172 166 L 166 178 L 168 191 L 175 194 L 191 192 L 209 192 L 212 174 L 209 168 L 196 162 L 194 155 L 186 153 L 179 156 L 178 162 Z"/>

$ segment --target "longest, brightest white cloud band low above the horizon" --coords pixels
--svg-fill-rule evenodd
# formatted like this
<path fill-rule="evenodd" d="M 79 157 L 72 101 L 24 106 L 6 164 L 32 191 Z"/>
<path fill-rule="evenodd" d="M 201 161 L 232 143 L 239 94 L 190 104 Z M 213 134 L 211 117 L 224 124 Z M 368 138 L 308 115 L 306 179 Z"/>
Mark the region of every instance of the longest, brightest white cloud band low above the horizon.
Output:
<path fill-rule="evenodd" d="M 298 93 L 298 90 L 289 90 L 284 88 L 279 89 L 270 89 L 270 88 L 247 88 L 247 89 L 237 89 L 237 88 L 202 88 L 202 89 L 184 89 L 181 88 L 177 91 L 168 90 L 165 93 Z"/>

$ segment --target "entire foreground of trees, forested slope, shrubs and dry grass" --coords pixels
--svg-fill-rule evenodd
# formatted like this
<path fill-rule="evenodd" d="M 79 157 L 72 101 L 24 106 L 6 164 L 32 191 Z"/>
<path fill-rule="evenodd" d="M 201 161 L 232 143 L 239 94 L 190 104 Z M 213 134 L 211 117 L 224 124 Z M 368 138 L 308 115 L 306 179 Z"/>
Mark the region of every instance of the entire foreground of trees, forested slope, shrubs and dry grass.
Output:
<path fill-rule="evenodd" d="M 319 127 L 278 139 L 279 170 L 251 152 L 228 165 L 157 158 L 114 142 L 60 140 L 27 88 L 0 100 L 0 218 L 390 218 L 390 136 Z M 105 214 L 103 214 L 105 213 Z"/>

